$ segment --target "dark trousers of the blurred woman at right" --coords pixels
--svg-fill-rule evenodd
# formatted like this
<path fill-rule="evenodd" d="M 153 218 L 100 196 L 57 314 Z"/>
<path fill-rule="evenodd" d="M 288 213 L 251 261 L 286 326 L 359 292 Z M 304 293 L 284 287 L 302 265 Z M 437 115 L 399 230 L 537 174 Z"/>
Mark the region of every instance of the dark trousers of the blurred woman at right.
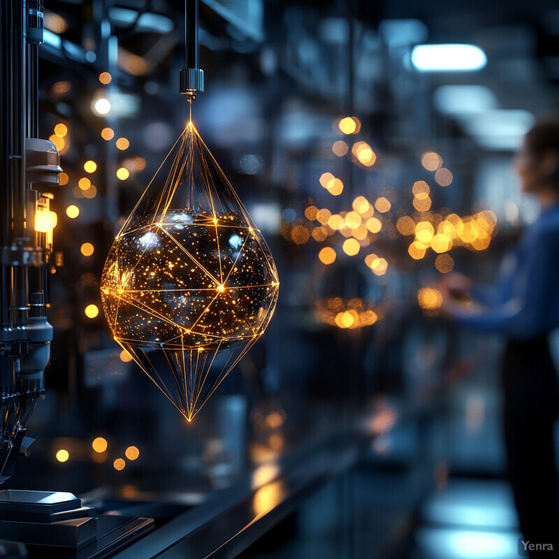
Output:
<path fill-rule="evenodd" d="M 559 412 L 559 382 L 545 337 L 509 340 L 502 363 L 503 424 L 509 481 L 524 539 L 553 544 L 559 558 L 558 481 L 553 425 Z"/>

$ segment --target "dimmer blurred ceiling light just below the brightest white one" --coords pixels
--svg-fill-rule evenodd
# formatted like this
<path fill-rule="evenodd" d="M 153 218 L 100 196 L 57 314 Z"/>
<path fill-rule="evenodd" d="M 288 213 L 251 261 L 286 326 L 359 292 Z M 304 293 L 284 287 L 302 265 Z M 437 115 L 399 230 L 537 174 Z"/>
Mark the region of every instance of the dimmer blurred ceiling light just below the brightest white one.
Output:
<path fill-rule="evenodd" d="M 433 101 L 444 115 L 475 115 L 499 106 L 495 94 L 484 85 L 442 85 L 435 89 Z"/>

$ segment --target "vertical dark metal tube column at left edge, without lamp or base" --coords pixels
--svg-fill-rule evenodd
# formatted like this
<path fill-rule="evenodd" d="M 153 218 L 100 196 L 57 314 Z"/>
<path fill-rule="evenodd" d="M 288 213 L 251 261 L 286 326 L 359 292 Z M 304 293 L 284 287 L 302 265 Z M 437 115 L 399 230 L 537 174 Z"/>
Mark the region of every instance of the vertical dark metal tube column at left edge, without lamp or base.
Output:
<path fill-rule="evenodd" d="M 58 185 L 59 154 L 38 139 L 42 1 L 0 6 L 0 483 L 26 453 L 25 424 L 44 393 L 52 326 L 46 318 L 51 240 L 36 231 Z M 52 231 L 51 231 L 52 233 Z"/>

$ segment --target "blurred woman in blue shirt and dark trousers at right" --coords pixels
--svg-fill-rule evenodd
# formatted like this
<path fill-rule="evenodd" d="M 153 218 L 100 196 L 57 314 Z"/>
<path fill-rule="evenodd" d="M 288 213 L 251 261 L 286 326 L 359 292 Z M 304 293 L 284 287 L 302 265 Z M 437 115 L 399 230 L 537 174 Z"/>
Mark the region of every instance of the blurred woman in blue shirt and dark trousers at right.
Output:
<path fill-rule="evenodd" d="M 559 382 L 547 340 L 559 326 L 559 119 L 539 122 L 526 134 L 516 171 L 523 192 L 538 198 L 541 213 L 504 259 L 498 283 L 477 286 L 451 274 L 441 289 L 451 318 L 507 337 L 501 383 L 509 480 L 525 541 L 553 545 L 554 551 L 530 557 L 550 558 L 559 556 L 553 445 Z"/>

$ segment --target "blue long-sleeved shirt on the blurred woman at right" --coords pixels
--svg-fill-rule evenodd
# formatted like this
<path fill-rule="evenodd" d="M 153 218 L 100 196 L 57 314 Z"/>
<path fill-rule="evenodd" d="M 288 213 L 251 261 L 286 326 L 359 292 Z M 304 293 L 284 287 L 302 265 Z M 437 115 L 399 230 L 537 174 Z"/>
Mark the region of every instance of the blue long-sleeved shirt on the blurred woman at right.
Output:
<path fill-rule="evenodd" d="M 453 313 L 460 324 L 513 340 L 532 340 L 559 326 L 559 204 L 525 229 L 503 261 L 495 287 L 474 286 L 479 312 Z"/>

